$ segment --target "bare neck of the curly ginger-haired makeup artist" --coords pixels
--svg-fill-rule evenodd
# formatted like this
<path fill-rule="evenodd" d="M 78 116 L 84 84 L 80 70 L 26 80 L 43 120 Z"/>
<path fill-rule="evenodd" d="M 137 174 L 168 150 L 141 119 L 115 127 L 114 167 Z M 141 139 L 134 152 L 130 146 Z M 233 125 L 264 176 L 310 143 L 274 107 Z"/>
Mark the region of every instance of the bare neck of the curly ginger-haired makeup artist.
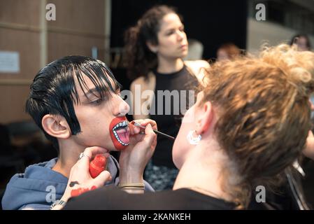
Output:
<path fill-rule="evenodd" d="M 211 197 L 230 201 L 229 195 L 222 190 L 225 181 L 222 171 L 225 169 L 226 157 L 222 155 L 222 150 L 218 146 L 215 149 L 208 147 L 205 149 L 207 152 L 204 152 L 204 147 L 195 146 L 190 151 L 180 168 L 173 190 L 190 188 Z"/>

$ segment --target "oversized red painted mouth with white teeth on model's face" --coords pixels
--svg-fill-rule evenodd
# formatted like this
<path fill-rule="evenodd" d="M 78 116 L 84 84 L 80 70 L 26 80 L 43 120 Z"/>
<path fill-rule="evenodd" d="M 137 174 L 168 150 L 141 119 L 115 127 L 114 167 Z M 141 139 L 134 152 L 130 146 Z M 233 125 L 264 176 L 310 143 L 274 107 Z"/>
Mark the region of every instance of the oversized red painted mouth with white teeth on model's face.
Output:
<path fill-rule="evenodd" d="M 110 123 L 110 137 L 117 150 L 129 145 L 129 122 L 125 117 L 114 118 Z"/>

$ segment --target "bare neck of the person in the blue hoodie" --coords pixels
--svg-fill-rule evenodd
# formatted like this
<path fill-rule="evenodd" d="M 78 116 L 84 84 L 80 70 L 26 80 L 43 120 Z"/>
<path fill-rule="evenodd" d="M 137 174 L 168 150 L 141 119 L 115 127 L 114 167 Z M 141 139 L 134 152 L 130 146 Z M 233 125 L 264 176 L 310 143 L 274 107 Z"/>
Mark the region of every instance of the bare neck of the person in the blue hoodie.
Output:
<path fill-rule="evenodd" d="M 73 146 L 71 144 L 65 145 L 59 142 L 59 156 L 52 170 L 69 178 L 72 167 L 78 162 L 78 157 L 84 149 L 84 147 Z"/>

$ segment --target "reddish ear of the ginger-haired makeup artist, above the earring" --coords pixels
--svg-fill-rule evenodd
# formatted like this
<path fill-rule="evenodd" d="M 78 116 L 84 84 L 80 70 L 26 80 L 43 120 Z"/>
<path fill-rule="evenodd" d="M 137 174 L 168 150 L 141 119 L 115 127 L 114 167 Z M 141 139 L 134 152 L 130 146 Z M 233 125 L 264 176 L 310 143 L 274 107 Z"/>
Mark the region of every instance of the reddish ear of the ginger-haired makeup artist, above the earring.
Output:
<path fill-rule="evenodd" d="M 210 102 L 205 102 L 203 105 L 198 106 L 195 113 L 195 116 L 197 116 L 195 119 L 197 134 L 204 134 L 213 122 L 213 105 Z"/>

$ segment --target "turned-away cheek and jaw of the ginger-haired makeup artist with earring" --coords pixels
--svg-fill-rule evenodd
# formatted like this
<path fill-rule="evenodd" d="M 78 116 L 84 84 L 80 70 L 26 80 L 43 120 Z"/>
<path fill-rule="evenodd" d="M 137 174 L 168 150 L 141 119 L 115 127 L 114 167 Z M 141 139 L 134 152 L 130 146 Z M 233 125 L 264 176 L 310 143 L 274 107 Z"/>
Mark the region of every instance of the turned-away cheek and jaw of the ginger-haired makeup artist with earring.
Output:
<path fill-rule="evenodd" d="M 201 104 L 203 96 L 204 92 L 197 94 L 197 102 L 185 113 L 176 141 L 174 141 L 172 157 L 178 169 L 182 167 L 190 150 L 194 149 L 194 145 L 191 145 L 189 141 L 187 141 L 187 134 L 196 129 L 195 124 L 197 123 L 197 116 L 199 114 L 198 106 Z"/>

